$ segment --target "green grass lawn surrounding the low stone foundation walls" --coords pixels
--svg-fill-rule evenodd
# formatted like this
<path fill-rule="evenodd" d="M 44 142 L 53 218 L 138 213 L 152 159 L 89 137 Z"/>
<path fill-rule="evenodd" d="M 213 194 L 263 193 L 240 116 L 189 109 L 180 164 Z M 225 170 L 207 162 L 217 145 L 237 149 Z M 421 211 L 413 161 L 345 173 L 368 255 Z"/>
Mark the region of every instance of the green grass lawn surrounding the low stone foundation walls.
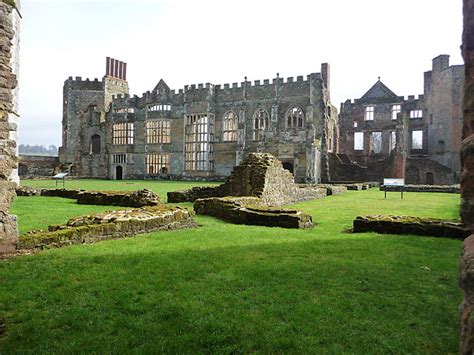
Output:
<path fill-rule="evenodd" d="M 67 182 L 98 190 L 126 183 Z M 191 185 L 132 183 L 161 196 Z M 295 206 L 313 216 L 314 229 L 196 216 L 199 229 L 0 262 L 0 353 L 458 351 L 461 242 L 344 230 L 358 214 L 457 218 L 459 195 L 384 200 L 372 189 Z M 25 231 L 97 208 L 22 197 L 13 211 Z"/>

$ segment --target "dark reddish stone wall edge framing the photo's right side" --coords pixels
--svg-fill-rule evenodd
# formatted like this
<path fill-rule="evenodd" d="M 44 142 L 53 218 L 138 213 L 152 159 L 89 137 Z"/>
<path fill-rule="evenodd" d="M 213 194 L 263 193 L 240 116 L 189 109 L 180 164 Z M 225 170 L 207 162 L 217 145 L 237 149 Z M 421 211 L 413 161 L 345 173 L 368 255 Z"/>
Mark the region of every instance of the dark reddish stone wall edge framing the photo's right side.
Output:
<path fill-rule="evenodd" d="M 464 124 L 461 146 L 461 218 L 474 233 L 474 0 L 464 0 L 462 54 L 465 63 Z M 461 311 L 461 354 L 474 352 L 474 234 L 464 241 L 460 285 L 464 291 Z"/>

